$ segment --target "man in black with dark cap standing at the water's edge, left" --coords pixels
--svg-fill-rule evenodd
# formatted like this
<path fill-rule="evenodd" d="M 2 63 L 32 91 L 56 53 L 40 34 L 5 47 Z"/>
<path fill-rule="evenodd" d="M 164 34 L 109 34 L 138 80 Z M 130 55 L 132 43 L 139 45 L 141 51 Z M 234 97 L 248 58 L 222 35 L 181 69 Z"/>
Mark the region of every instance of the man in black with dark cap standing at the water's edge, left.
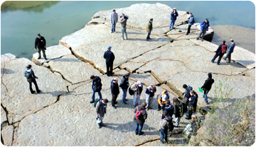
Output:
<path fill-rule="evenodd" d="M 47 60 L 46 58 L 46 40 L 43 36 L 38 34 L 38 37 L 36 37 L 35 41 L 35 50 L 36 47 L 38 47 L 38 59 L 41 59 L 41 51 L 43 52 L 43 57 Z"/>

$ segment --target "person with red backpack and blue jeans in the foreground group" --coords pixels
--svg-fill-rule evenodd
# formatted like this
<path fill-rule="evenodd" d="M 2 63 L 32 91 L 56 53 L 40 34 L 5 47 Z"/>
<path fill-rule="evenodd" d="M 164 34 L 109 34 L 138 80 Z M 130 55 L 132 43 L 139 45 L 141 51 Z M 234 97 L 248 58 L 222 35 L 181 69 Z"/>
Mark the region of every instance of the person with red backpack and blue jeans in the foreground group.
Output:
<path fill-rule="evenodd" d="M 135 127 L 135 134 L 136 135 L 142 135 L 144 132 L 142 131 L 143 124 L 145 122 L 145 119 L 147 118 L 146 114 L 146 102 L 142 102 L 142 105 L 138 105 L 134 109 L 134 122 L 136 122 L 136 127 Z"/>

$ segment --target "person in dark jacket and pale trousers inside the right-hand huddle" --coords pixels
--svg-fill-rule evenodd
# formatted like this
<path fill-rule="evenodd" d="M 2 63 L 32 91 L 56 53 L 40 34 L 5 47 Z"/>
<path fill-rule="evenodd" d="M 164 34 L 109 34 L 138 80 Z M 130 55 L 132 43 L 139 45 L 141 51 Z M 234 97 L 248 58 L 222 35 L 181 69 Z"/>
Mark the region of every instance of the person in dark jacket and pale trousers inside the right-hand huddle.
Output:
<path fill-rule="evenodd" d="M 175 114 L 175 125 L 174 127 L 178 127 L 179 122 L 181 121 L 182 117 L 182 110 L 183 110 L 183 104 L 181 101 L 178 100 L 178 98 L 174 97 L 174 114 Z"/>

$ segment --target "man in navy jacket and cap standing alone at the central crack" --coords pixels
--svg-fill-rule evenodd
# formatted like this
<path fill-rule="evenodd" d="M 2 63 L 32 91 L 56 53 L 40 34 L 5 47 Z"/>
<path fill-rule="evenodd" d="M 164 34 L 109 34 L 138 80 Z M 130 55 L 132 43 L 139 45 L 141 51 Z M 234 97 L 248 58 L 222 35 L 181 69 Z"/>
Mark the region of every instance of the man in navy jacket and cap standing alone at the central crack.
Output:
<path fill-rule="evenodd" d="M 107 51 L 104 53 L 104 59 L 106 59 L 106 66 L 107 66 L 107 76 L 112 76 L 113 73 L 113 62 L 114 62 L 114 54 L 111 52 L 110 46 L 107 47 Z"/>

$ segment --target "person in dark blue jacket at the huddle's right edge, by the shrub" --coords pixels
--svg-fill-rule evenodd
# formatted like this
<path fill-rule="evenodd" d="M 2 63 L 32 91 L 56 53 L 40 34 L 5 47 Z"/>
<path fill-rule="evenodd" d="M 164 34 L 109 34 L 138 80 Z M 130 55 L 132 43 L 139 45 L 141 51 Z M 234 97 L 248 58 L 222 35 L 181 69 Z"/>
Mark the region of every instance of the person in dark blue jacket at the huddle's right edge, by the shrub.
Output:
<path fill-rule="evenodd" d="M 191 119 L 192 113 L 196 112 L 196 105 L 198 101 L 198 94 L 194 90 L 191 90 L 189 93 L 191 94 L 191 98 L 188 99 L 188 117 L 185 119 Z"/>

